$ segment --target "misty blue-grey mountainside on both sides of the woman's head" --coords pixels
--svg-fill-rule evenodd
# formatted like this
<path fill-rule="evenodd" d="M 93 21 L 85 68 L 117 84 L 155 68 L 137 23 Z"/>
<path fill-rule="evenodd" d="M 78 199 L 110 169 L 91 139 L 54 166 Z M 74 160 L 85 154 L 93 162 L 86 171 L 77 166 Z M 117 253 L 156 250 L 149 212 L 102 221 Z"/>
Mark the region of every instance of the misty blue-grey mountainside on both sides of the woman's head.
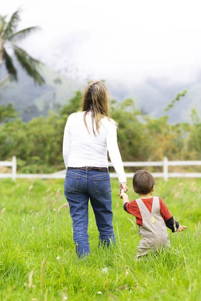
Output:
<path fill-rule="evenodd" d="M 20 116 L 24 121 L 33 117 L 47 115 L 50 109 L 58 109 L 71 98 L 76 90 L 83 89 L 86 83 L 67 78 L 64 75 L 43 67 L 41 72 L 46 80 L 43 86 L 35 86 L 33 80 L 18 65 L 19 82 L 11 83 L 10 86 L 1 91 L 0 104 L 12 102 L 14 107 L 21 111 Z M 6 70 L 1 69 L 1 78 L 6 76 Z M 172 83 L 167 79 L 149 78 L 140 84 L 126 84 L 122 82 L 106 81 L 111 96 L 118 102 L 126 98 L 139 100 L 138 106 L 145 113 L 153 117 L 164 114 L 164 108 L 175 97 L 177 92 L 187 89 L 188 93 L 181 101 L 168 112 L 171 123 L 178 121 L 189 121 L 191 108 L 195 107 L 201 112 L 201 73 L 195 80 L 188 83 Z"/>

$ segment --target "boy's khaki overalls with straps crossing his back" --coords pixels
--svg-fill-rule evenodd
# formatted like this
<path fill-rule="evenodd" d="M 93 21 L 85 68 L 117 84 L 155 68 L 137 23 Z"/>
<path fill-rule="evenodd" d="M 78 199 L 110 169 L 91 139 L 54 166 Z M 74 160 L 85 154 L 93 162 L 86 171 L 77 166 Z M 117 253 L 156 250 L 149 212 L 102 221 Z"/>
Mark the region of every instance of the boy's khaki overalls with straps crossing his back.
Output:
<path fill-rule="evenodd" d="M 170 247 L 169 237 L 164 219 L 160 215 L 159 198 L 153 197 L 151 213 L 141 199 L 136 203 L 142 215 L 142 227 L 139 233 L 142 240 L 138 245 L 137 258 L 146 255 L 149 251 L 157 251 L 160 248 Z"/>

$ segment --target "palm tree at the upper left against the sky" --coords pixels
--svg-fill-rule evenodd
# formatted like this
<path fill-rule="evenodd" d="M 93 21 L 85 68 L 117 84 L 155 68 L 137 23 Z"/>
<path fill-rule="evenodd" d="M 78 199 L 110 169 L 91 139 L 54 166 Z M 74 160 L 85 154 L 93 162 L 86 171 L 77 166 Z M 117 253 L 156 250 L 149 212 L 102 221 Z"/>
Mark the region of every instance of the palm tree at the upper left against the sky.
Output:
<path fill-rule="evenodd" d="M 20 19 L 20 10 L 17 10 L 12 16 L 9 22 L 6 21 L 7 16 L 0 15 L 0 67 L 5 61 L 6 69 L 10 75 L 11 80 L 18 80 L 18 72 L 13 64 L 13 59 L 9 55 L 7 49 L 12 48 L 15 57 L 27 72 L 29 76 L 34 79 L 34 82 L 41 85 L 45 81 L 40 75 L 38 68 L 41 62 L 32 58 L 24 49 L 17 46 L 17 42 L 26 38 L 32 32 L 39 30 L 40 28 L 29 27 L 20 31 L 16 31 Z"/>

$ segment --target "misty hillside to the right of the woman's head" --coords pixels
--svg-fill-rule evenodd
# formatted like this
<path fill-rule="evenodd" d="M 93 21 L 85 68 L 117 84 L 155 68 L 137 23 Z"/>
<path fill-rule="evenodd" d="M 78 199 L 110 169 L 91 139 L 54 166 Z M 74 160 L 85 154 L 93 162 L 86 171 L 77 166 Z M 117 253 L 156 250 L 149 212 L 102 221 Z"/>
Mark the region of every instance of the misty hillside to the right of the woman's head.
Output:
<path fill-rule="evenodd" d="M 169 110 L 169 122 L 190 121 L 191 109 L 196 108 L 201 116 L 201 73 L 188 83 L 172 83 L 168 79 L 149 78 L 140 84 L 126 85 L 111 82 L 109 89 L 117 101 L 125 98 L 139 100 L 137 103 L 145 113 L 153 117 L 164 115 L 164 108 L 178 92 L 187 89 L 185 97 Z"/>

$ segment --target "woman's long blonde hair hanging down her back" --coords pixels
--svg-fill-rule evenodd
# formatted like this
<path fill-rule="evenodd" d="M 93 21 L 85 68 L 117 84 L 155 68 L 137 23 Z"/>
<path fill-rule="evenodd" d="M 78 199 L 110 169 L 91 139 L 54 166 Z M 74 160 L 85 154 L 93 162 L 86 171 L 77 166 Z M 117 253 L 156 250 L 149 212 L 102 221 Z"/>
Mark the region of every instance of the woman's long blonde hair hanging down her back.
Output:
<path fill-rule="evenodd" d="M 107 117 L 109 120 L 109 99 L 108 91 L 103 82 L 94 82 L 89 84 L 83 95 L 82 111 L 84 111 L 84 124 L 89 132 L 86 115 L 91 112 L 93 134 L 96 136 L 95 131 L 99 134 L 100 121 L 102 118 Z M 95 124 L 95 126 L 94 126 Z"/>

